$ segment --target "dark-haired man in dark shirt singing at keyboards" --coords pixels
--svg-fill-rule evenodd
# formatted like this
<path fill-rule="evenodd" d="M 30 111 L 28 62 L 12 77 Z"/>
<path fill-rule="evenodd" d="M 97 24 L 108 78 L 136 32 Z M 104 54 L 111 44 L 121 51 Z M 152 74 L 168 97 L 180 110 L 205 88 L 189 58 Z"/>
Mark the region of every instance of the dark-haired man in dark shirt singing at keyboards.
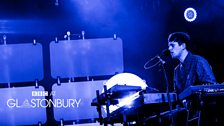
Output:
<path fill-rule="evenodd" d="M 191 85 L 216 83 L 207 60 L 188 50 L 189 41 L 190 36 L 185 32 L 174 32 L 168 37 L 171 57 L 180 61 L 174 70 L 174 87 L 178 94 Z"/>

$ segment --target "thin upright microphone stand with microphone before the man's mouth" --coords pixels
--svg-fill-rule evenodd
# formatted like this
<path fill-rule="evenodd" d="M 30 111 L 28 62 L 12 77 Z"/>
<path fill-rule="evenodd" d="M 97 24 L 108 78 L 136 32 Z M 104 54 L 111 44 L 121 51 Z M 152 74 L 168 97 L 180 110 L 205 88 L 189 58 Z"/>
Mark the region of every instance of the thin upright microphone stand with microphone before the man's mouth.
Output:
<path fill-rule="evenodd" d="M 159 59 L 159 61 L 161 63 L 162 70 L 163 70 L 163 74 L 164 74 L 164 77 L 165 77 L 165 81 L 166 81 L 166 93 L 167 93 L 169 110 L 170 110 L 170 116 L 169 116 L 169 118 L 171 119 L 171 126 L 174 126 L 174 123 L 173 123 L 172 102 L 171 102 L 170 92 L 169 92 L 169 82 L 168 82 L 168 77 L 167 77 L 167 74 L 166 74 L 166 69 L 164 67 L 164 64 L 166 62 L 163 59 L 161 59 L 159 56 L 157 56 L 157 58 Z"/>

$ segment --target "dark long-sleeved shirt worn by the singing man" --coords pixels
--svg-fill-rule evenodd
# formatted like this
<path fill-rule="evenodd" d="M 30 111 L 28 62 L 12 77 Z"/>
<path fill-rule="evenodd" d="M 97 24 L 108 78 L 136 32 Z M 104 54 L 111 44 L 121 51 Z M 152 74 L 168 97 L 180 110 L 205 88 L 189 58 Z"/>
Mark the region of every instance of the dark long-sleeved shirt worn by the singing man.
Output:
<path fill-rule="evenodd" d="M 208 61 L 201 56 L 188 53 L 183 63 L 174 70 L 174 84 L 177 93 L 191 85 L 214 84 L 215 76 Z"/>

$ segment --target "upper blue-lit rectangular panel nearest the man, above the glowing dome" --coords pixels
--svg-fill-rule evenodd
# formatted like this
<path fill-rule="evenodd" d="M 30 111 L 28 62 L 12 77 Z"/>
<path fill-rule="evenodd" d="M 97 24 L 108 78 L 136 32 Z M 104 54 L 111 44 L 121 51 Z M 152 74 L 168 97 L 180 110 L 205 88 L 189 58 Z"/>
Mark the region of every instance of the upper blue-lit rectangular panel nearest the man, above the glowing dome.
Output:
<path fill-rule="evenodd" d="M 51 76 L 55 79 L 106 76 L 123 72 L 122 40 L 58 40 L 50 43 Z"/>

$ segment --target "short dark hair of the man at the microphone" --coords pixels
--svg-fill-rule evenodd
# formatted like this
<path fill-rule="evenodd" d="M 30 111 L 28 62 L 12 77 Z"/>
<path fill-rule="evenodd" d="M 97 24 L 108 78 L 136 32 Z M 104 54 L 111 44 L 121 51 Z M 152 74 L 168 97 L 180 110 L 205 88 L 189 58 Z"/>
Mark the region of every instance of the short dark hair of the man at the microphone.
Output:
<path fill-rule="evenodd" d="M 168 37 L 168 42 L 178 42 L 179 45 L 182 43 L 186 44 L 186 47 L 188 47 L 190 42 L 190 36 L 186 32 L 173 32 Z"/>

